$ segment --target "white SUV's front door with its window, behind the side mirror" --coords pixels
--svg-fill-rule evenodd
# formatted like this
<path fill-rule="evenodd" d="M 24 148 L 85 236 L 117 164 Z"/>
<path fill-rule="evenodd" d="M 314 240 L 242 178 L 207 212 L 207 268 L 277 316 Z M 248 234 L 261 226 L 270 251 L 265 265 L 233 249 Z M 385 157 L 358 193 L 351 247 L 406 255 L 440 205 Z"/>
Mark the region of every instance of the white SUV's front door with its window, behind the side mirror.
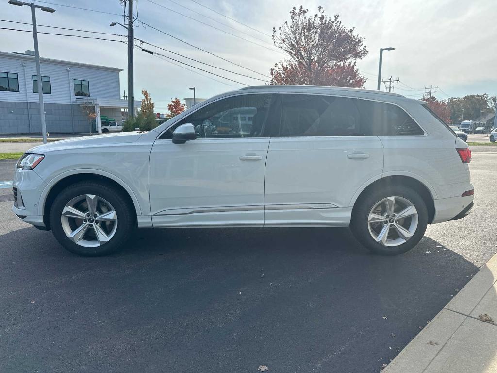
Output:
<path fill-rule="evenodd" d="M 150 157 L 154 227 L 260 226 L 272 94 L 241 94 L 200 107 L 163 133 Z M 197 139 L 170 140 L 192 123 Z"/>

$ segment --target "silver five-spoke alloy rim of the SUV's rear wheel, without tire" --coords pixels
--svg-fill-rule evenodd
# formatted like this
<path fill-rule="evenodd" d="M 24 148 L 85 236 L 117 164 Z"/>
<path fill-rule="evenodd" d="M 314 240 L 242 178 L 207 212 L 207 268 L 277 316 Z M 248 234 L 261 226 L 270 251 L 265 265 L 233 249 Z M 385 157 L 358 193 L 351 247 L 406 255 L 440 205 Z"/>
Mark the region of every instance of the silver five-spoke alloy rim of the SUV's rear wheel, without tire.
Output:
<path fill-rule="evenodd" d="M 367 223 L 369 233 L 376 242 L 383 246 L 399 246 L 416 232 L 418 214 L 410 200 L 391 196 L 373 206 Z"/>

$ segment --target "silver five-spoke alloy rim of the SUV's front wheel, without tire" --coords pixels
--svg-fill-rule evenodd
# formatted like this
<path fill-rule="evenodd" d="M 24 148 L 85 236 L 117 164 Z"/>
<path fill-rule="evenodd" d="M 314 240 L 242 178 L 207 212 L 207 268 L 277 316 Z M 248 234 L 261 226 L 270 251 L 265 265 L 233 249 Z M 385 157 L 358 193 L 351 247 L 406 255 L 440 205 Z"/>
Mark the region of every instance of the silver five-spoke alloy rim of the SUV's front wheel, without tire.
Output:
<path fill-rule="evenodd" d="M 117 213 L 104 198 L 82 194 L 63 208 L 61 223 L 66 236 L 77 245 L 98 247 L 116 233 Z"/>

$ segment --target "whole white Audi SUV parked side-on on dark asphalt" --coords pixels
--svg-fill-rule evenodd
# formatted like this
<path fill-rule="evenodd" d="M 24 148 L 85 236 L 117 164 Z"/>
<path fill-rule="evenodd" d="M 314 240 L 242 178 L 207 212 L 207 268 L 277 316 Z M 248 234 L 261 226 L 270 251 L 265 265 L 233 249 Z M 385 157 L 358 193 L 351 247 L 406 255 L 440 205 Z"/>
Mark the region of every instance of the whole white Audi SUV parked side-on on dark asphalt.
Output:
<path fill-rule="evenodd" d="M 69 251 L 111 253 L 139 228 L 347 227 L 396 255 L 473 207 L 468 145 L 396 93 L 249 87 L 148 132 L 30 149 L 13 212 Z"/>

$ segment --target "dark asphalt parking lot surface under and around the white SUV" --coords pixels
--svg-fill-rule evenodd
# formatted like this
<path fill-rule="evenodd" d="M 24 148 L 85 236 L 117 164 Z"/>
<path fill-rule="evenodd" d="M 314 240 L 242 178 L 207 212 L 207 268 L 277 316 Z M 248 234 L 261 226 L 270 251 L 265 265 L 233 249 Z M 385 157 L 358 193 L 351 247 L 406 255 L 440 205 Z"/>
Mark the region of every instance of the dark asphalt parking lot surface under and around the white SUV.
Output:
<path fill-rule="evenodd" d="M 377 373 L 496 252 L 479 148 L 473 212 L 393 258 L 330 228 L 141 230 L 80 258 L 0 200 L 0 372 Z"/>

